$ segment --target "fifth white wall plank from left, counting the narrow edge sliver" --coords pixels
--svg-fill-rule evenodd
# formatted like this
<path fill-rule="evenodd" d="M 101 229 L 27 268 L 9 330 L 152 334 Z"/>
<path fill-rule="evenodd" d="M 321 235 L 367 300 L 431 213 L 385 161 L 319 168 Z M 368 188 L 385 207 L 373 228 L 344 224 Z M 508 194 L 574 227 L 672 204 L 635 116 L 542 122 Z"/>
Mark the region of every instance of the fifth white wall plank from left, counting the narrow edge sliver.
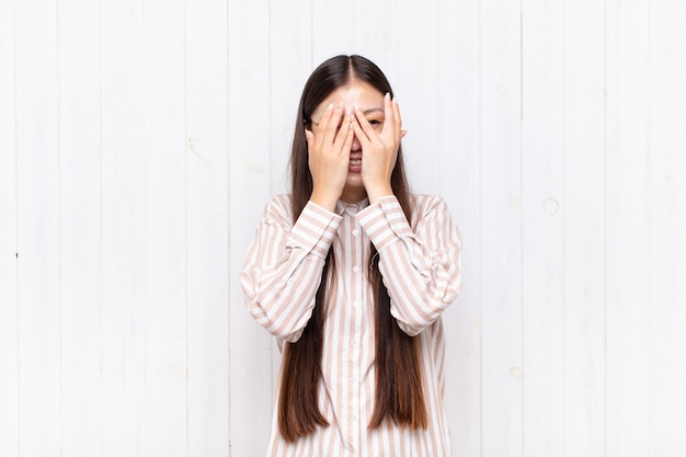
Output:
<path fill-rule="evenodd" d="M 145 449 L 187 446 L 185 2 L 144 2 Z"/>

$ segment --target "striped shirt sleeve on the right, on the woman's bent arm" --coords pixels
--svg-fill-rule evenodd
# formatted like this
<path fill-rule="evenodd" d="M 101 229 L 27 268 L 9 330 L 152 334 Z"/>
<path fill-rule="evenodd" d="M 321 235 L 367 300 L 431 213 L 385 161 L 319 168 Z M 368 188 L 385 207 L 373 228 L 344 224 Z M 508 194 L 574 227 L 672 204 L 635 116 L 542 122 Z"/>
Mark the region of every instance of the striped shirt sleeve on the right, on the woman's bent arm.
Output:
<path fill-rule="evenodd" d="M 357 215 L 379 252 L 379 270 L 399 327 L 416 335 L 461 290 L 461 237 L 446 203 L 416 196 L 414 228 L 396 196 L 379 198 Z"/>

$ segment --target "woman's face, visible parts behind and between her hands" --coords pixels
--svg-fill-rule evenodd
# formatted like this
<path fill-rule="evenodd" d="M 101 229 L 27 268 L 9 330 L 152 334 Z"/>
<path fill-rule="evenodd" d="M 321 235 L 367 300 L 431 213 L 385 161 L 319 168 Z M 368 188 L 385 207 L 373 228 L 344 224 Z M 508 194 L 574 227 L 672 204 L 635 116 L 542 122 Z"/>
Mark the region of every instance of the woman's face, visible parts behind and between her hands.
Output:
<path fill-rule="evenodd" d="M 312 132 L 315 135 L 321 133 L 319 130 L 319 119 L 321 119 L 324 110 L 329 104 L 339 106 L 343 103 L 346 110 L 353 110 L 358 106 L 365 113 L 367 121 L 374 127 L 377 134 L 381 133 L 384 127 L 384 94 L 366 82 L 353 80 L 346 85 L 342 85 L 329 94 L 322 101 L 315 113 L 312 113 Z M 347 203 L 357 203 L 363 199 L 367 193 L 362 182 L 362 146 L 355 137 L 350 151 L 350 164 L 347 168 L 347 181 L 345 188 L 341 195 L 341 199 Z"/>

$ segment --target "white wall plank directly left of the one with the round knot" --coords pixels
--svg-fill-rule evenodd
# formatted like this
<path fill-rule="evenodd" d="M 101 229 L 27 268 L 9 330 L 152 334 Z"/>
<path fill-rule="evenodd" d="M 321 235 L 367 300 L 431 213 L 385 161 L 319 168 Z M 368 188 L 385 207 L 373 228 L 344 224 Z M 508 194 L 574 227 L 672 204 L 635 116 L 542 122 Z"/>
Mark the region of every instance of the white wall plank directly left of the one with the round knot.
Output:
<path fill-rule="evenodd" d="M 518 2 L 481 2 L 482 456 L 522 455 Z"/>

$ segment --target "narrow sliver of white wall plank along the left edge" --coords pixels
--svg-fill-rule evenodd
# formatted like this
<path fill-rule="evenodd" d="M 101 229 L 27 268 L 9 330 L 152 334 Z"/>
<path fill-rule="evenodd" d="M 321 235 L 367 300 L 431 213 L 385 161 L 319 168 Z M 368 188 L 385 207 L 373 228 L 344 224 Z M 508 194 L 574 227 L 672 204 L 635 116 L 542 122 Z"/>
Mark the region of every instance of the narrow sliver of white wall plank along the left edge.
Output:
<path fill-rule="evenodd" d="M 0 3 L 0 456 L 19 455 L 14 8 Z"/>

